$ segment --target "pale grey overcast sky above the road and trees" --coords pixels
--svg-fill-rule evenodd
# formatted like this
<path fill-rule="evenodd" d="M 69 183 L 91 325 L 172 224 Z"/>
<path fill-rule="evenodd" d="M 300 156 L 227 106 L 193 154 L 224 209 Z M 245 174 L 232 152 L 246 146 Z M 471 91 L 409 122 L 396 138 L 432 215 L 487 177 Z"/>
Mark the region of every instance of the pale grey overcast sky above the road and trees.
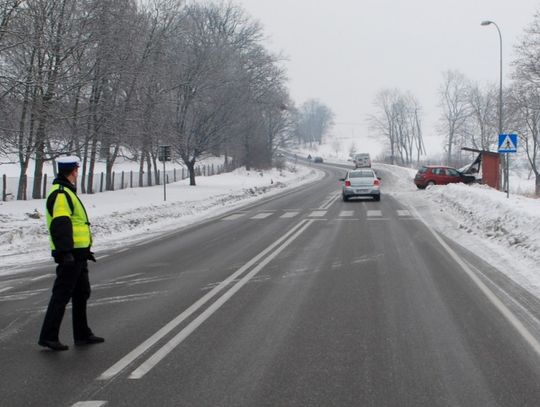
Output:
<path fill-rule="evenodd" d="M 268 47 L 282 51 L 297 104 L 317 98 L 336 114 L 335 133 L 365 140 L 377 92 L 411 91 L 424 108 L 424 133 L 436 133 L 442 72 L 509 81 L 513 46 L 540 9 L 539 0 L 235 0 L 264 26 Z M 431 151 L 438 140 L 428 139 Z M 430 151 L 428 151 L 429 153 Z"/>

